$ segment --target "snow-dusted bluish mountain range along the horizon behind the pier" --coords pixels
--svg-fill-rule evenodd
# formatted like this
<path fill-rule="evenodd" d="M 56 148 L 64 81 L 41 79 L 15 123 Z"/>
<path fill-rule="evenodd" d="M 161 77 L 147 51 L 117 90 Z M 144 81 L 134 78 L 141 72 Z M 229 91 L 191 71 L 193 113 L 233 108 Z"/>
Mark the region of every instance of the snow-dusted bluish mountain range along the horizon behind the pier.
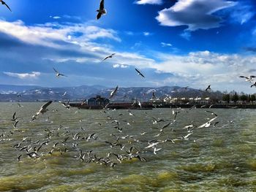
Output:
<path fill-rule="evenodd" d="M 78 87 L 66 88 L 43 88 L 39 86 L 30 85 L 0 85 L 0 101 L 44 101 L 44 100 L 70 100 L 81 101 L 89 99 L 94 96 L 103 96 L 108 98 L 113 88 L 106 88 L 101 85 L 83 85 Z M 172 97 L 215 97 L 222 98 L 222 93 L 212 92 L 206 93 L 193 88 L 181 88 L 178 86 L 159 87 L 159 88 L 145 88 L 145 87 L 131 87 L 119 88 L 118 93 L 113 97 L 114 101 L 130 101 L 137 98 L 142 101 L 148 101 L 152 95 L 156 98 L 164 98 L 165 96 Z"/>

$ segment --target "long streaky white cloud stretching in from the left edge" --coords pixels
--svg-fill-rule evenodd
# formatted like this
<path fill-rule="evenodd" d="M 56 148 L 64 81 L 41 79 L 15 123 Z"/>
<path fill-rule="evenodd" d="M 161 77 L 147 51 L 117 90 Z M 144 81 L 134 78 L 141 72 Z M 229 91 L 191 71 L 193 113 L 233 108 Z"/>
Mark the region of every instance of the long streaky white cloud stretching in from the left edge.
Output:
<path fill-rule="evenodd" d="M 86 23 L 61 25 L 59 23 L 45 23 L 37 26 L 26 26 L 21 20 L 7 22 L 0 20 L 0 32 L 11 35 L 31 45 L 42 45 L 60 48 L 58 42 L 70 42 L 83 45 L 96 39 L 113 39 L 121 42 L 113 29 L 88 26 Z M 76 34 L 80 36 L 76 36 Z"/>

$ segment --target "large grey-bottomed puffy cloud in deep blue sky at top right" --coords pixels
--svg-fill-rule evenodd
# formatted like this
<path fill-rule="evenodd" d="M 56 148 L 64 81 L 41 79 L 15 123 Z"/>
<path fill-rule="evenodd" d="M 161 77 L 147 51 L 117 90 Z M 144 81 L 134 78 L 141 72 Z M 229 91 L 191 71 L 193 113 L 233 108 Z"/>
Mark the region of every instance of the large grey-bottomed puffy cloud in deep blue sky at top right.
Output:
<path fill-rule="evenodd" d="M 178 0 L 173 7 L 159 11 L 156 19 L 162 26 L 188 26 L 189 31 L 217 28 L 222 19 L 213 13 L 234 5 L 224 0 Z"/>

